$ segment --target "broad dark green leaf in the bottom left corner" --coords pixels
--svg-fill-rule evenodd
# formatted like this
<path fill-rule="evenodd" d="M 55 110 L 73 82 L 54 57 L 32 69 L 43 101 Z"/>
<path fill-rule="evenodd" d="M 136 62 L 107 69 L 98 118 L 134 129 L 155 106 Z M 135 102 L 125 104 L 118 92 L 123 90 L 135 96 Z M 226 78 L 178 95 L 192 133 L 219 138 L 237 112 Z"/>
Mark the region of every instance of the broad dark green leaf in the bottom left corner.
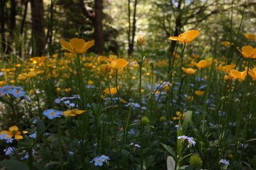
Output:
<path fill-rule="evenodd" d="M 18 160 L 2 160 L 0 164 L 1 166 L 6 167 L 7 170 L 17 170 L 18 167 L 19 170 L 29 170 L 27 164 L 24 164 Z"/>

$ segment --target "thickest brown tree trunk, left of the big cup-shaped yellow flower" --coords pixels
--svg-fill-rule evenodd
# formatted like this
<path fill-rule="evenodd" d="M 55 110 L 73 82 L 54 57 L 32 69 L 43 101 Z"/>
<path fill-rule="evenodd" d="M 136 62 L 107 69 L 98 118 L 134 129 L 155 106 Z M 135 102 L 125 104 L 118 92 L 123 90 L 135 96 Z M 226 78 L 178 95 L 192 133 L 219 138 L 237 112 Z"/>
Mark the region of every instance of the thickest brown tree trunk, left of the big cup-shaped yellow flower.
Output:
<path fill-rule="evenodd" d="M 45 48 L 43 0 L 30 0 L 32 15 L 33 55 L 42 55 Z"/>

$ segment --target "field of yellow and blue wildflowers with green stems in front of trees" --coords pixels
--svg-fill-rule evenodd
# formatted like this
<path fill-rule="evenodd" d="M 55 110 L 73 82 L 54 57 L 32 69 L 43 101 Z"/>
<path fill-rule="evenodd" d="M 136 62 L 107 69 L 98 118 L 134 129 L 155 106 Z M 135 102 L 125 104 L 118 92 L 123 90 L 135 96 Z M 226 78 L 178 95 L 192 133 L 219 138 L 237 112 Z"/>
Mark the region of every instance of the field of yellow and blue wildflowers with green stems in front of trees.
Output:
<path fill-rule="evenodd" d="M 256 35 L 221 42 L 216 59 L 191 49 L 203 34 L 171 36 L 170 61 L 147 57 L 143 36 L 134 57 L 72 38 L 63 53 L 2 59 L 1 167 L 255 169 Z"/>

